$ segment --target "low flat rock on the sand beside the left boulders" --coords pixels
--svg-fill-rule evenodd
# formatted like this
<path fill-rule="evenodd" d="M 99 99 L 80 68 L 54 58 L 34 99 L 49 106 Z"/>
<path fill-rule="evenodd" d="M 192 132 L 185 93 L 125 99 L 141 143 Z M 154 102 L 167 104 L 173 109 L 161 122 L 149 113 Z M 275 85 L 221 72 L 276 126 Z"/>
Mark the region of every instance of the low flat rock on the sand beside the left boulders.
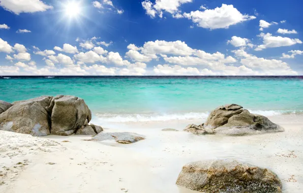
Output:
<path fill-rule="evenodd" d="M 92 138 L 92 141 L 105 141 L 105 140 L 115 140 L 118 143 L 135 143 L 137 141 L 143 140 L 144 136 L 129 133 L 129 132 L 115 132 L 115 133 L 100 133 Z"/>

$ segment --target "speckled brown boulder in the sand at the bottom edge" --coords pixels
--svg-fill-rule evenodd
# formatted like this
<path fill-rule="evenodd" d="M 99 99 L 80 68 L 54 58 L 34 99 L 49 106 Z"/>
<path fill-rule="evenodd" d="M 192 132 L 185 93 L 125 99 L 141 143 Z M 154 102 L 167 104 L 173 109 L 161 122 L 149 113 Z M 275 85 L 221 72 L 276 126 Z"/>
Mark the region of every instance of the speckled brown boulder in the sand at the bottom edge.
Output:
<path fill-rule="evenodd" d="M 233 159 L 187 164 L 176 184 L 205 193 L 282 192 L 282 183 L 274 172 Z"/>

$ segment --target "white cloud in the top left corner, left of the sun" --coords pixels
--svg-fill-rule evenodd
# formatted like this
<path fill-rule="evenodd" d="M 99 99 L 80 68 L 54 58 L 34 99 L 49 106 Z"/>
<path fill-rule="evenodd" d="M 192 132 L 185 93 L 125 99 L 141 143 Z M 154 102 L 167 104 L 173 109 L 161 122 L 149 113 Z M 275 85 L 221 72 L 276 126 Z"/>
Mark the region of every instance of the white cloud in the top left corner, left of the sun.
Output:
<path fill-rule="evenodd" d="M 53 8 L 40 0 L 1 0 L 0 6 L 17 15 L 20 13 L 43 12 Z"/>

